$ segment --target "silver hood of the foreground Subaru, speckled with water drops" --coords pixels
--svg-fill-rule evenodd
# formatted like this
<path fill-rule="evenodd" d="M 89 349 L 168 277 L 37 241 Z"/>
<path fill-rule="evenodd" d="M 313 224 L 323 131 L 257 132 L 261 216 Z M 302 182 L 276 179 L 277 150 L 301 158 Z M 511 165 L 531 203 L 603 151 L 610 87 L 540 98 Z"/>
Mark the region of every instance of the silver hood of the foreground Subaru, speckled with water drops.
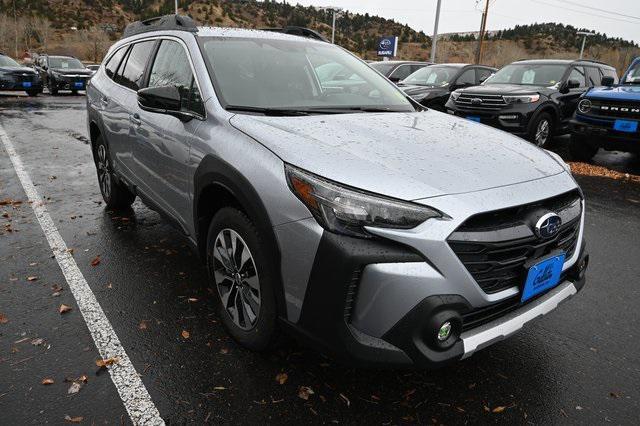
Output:
<path fill-rule="evenodd" d="M 283 161 L 404 200 L 541 179 L 564 168 L 528 142 L 436 111 L 230 119 Z"/>

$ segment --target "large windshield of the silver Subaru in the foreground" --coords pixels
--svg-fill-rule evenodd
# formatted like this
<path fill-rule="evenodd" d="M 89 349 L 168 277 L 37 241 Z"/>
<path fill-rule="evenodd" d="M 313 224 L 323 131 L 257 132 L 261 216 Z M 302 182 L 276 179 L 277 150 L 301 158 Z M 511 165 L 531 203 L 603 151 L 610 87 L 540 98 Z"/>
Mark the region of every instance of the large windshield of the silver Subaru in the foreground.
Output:
<path fill-rule="evenodd" d="M 329 43 L 210 37 L 203 51 L 229 109 L 415 111 L 393 84 Z"/>

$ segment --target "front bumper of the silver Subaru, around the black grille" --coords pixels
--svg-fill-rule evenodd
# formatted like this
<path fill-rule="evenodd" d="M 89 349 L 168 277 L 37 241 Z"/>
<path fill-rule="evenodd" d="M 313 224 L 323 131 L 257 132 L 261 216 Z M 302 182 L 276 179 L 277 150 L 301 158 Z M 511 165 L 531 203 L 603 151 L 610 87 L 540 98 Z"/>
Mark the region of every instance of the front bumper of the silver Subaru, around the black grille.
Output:
<path fill-rule="evenodd" d="M 436 368 L 462 359 L 552 310 L 559 301 L 558 297 L 547 301 L 555 290 L 525 304 L 520 303 L 518 287 L 483 291 L 452 250 L 449 236 L 469 217 L 487 209 L 531 203 L 531 193 L 543 200 L 574 190 L 573 179 L 563 173 L 509 187 L 430 198 L 425 203 L 456 214 L 408 231 L 371 229 L 382 237 L 378 239 L 349 238 L 320 228 L 317 245 L 282 251 L 285 324 L 323 352 L 360 366 Z M 578 271 L 588 260 L 583 215 L 584 208 L 577 248 L 565 262 L 556 289 L 572 286 L 577 291 L 584 285 L 584 273 Z M 278 233 L 281 247 L 291 245 L 287 238 L 300 241 L 315 228 L 319 226 L 313 219 L 283 225 Z M 312 265 L 303 285 L 296 268 L 303 267 L 307 258 Z M 298 279 L 290 279 L 293 269 Z M 562 296 L 574 293 L 563 291 Z M 435 336 L 448 320 L 453 320 L 456 337 L 443 344 Z M 478 330 L 490 331 L 476 335 Z"/>

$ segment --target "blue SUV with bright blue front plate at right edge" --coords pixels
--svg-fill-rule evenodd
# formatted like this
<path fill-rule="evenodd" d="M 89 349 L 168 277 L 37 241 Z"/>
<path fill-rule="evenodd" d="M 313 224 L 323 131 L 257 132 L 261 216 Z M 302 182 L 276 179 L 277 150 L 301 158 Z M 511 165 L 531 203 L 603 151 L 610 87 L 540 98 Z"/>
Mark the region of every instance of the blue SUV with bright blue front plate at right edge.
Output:
<path fill-rule="evenodd" d="M 574 159 L 590 161 L 598 149 L 640 153 L 640 58 L 617 84 L 613 75 L 584 94 L 571 121 Z"/>

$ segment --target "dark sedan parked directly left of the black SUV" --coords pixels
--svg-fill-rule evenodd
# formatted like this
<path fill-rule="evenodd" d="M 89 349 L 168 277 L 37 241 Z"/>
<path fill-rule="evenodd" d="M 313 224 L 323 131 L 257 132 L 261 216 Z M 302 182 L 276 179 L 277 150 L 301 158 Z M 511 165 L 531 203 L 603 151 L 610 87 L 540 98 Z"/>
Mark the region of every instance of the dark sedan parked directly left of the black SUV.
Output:
<path fill-rule="evenodd" d="M 398 87 L 422 105 L 444 111 L 451 92 L 477 86 L 496 71 L 484 65 L 436 64 L 414 72 Z"/>

